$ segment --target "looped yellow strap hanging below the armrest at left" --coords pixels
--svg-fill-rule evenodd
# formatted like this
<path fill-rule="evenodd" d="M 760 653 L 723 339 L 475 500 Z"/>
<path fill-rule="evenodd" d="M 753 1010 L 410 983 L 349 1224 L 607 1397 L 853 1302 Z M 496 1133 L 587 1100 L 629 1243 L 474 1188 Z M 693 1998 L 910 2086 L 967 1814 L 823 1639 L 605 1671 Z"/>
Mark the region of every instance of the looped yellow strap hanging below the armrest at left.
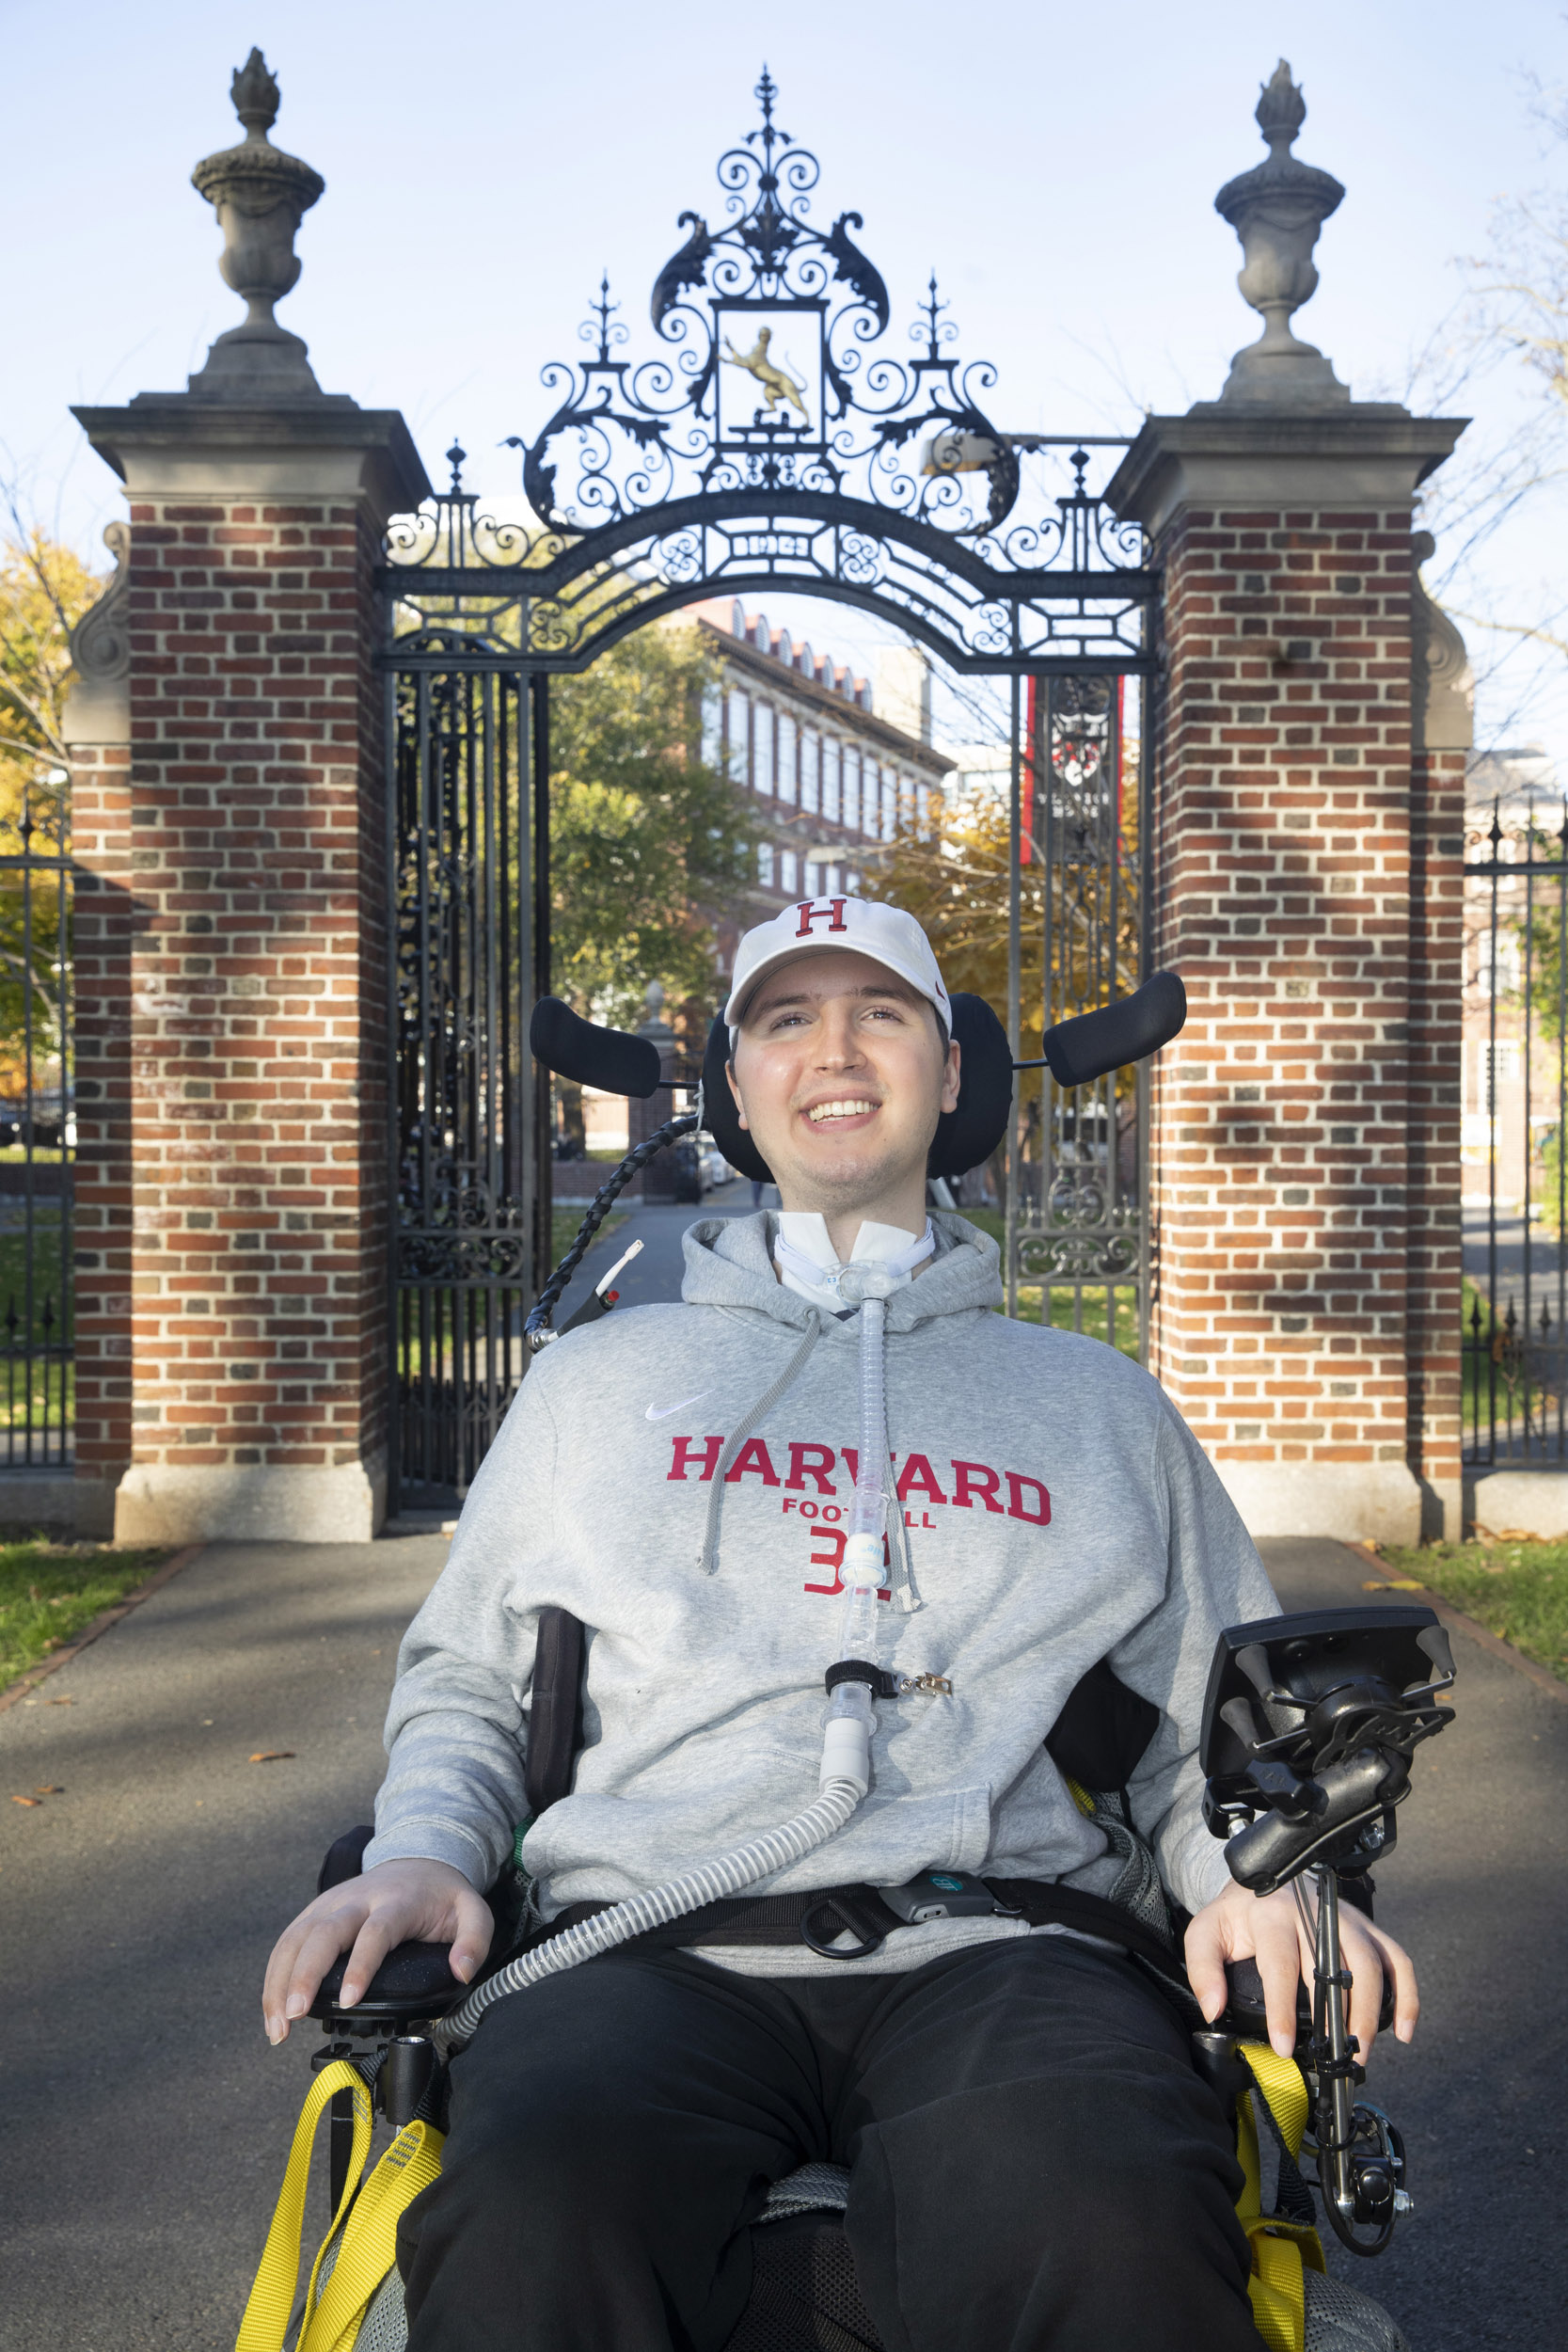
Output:
<path fill-rule="evenodd" d="M 294 2126 L 294 2147 L 268 2230 L 256 2284 L 252 2286 L 235 2352 L 282 2352 L 299 2284 L 299 2239 L 306 2220 L 306 2180 L 315 2126 L 334 2091 L 350 2091 L 355 2143 L 343 2197 L 310 2265 L 306 2319 L 294 2352 L 350 2352 L 371 2296 L 397 2260 L 397 2216 L 442 2169 L 442 2133 L 430 2124 L 407 2124 L 381 2164 L 360 2187 L 371 2138 L 371 2103 L 362 2077 L 346 2060 L 322 2067 Z M 357 2190 L 357 2194 L 355 2194 Z M 322 2265 L 336 2241 L 336 2260 L 322 2281 Z"/>

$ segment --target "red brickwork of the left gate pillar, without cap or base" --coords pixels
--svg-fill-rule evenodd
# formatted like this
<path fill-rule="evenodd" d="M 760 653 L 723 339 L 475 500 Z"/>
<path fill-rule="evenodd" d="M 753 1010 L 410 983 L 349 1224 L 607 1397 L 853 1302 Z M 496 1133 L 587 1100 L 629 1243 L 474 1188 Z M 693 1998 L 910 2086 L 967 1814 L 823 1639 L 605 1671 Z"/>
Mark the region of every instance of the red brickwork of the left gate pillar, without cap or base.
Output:
<path fill-rule="evenodd" d="M 132 499 L 129 776 L 75 771 L 82 1475 L 386 1444 L 374 560 L 353 503 Z"/>

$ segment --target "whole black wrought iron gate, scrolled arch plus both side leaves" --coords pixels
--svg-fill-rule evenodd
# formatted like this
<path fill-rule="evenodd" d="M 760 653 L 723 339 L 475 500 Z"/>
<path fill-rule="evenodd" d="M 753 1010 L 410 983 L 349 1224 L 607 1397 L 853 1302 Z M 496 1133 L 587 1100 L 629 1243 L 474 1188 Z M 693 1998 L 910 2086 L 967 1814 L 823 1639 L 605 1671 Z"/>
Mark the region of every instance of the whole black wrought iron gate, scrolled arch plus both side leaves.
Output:
<path fill-rule="evenodd" d="M 550 1268 L 548 1080 L 524 1040 L 550 993 L 552 675 L 686 604 L 773 590 L 1006 680 L 1013 1051 L 1025 863 L 1041 870 L 1044 1018 L 1140 978 L 1126 941 L 1147 938 L 1150 828 L 1121 807 L 1117 682 L 1154 668 L 1159 579 L 1138 524 L 1091 487 L 1098 449 L 1126 445 L 999 428 L 994 369 L 959 358 L 936 278 L 912 355 L 889 346 L 863 219 L 816 226 L 818 162 L 776 125 L 776 96 L 764 71 L 762 120 L 717 165 L 724 216 L 679 214 L 649 355 L 630 355 L 604 282 L 588 355 L 545 367 L 555 412 L 508 442 L 529 520 L 484 515 L 454 449 L 451 487 L 388 532 L 395 1508 L 465 1489 Z M 1126 1183 L 1114 1089 L 1067 1103 L 1041 1080 L 1027 1169 L 1023 1117 L 1009 1303 L 1020 1275 L 1044 1277 L 1051 1312 L 1056 1279 L 1081 1322 L 1084 1289 L 1105 1284 L 1114 1336 L 1119 1284 L 1143 1331 L 1147 1188 Z"/>

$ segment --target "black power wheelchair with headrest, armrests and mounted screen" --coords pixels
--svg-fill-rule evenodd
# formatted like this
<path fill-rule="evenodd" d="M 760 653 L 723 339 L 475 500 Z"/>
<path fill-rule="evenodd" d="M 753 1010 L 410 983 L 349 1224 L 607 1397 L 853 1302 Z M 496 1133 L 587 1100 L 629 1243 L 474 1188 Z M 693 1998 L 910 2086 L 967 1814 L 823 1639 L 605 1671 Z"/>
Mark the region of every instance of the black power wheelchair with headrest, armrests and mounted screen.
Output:
<path fill-rule="evenodd" d="M 990 1155 L 1006 1120 L 1013 1068 L 1023 1068 L 1013 1065 L 1006 1035 L 990 1007 L 978 997 L 952 997 L 950 1009 L 952 1033 L 964 1047 L 964 1087 L 957 1110 L 945 1112 L 938 1127 L 933 1176 L 943 1169 L 976 1167 Z M 1182 1018 L 1180 981 L 1173 974 L 1157 974 L 1133 997 L 1048 1030 L 1044 1061 L 1058 1084 L 1077 1087 L 1154 1051 L 1175 1035 Z M 595 1030 L 552 1000 L 536 1007 L 531 1047 L 536 1058 L 559 1075 L 611 1091 L 649 1096 L 658 1084 L 668 1084 L 646 1040 Z M 729 1117 L 726 1051 L 726 1033 L 722 1021 L 715 1021 L 703 1068 L 708 1124 L 741 1174 L 762 1174 L 766 1181 L 769 1169 L 750 1136 Z M 550 1315 L 618 1190 L 661 1148 L 693 1131 L 701 1108 L 698 1096 L 696 1112 L 668 1120 L 646 1143 L 628 1152 L 599 1190 L 574 1247 L 527 1319 L 534 1350 L 552 1338 Z M 614 1291 L 607 1296 L 607 1284 L 609 1277 L 567 1329 L 609 1312 Z M 870 1446 L 863 1446 L 863 1454 L 870 1454 Z M 524 1776 L 529 1820 L 571 1790 L 583 1745 L 585 1658 L 585 1628 L 562 1609 L 543 1611 L 529 1703 Z M 990 1907 L 1023 1915 L 1032 1924 L 1079 1926 L 1119 1943 L 1175 2004 L 1192 2034 L 1194 2067 L 1225 2105 L 1234 2105 L 1239 2154 L 1255 2206 L 1251 2218 L 1244 2216 L 1253 2237 L 1255 2272 L 1260 2239 L 1274 2246 L 1307 2241 L 1321 2263 L 1312 2227 L 1312 2190 L 1347 2249 L 1363 2256 L 1380 2253 L 1389 2244 L 1394 2223 L 1410 2213 L 1413 2204 L 1396 2126 L 1380 2107 L 1354 2096 L 1366 2077 L 1356 2065 L 1356 2044 L 1345 2020 L 1349 1978 L 1340 1959 L 1338 1915 L 1340 1898 L 1371 1915 L 1371 1865 L 1394 1849 L 1394 1809 L 1410 1788 L 1410 1757 L 1450 1719 L 1439 1705 L 1450 1684 L 1448 1637 L 1429 1609 L 1307 1611 L 1229 1628 L 1218 1642 L 1199 1750 L 1206 1820 L 1215 1837 L 1227 1839 L 1227 1863 L 1239 1884 L 1255 1893 L 1295 1886 L 1302 1919 L 1316 1943 L 1314 1985 L 1312 1990 L 1302 1985 L 1298 1994 L 1300 2074 L 1286 2070 L 1295 2084 L 1291 2133 L 1281 2131 L 1272 2093 L 1258 2072 L 1260 2060 L 1267 2060 L 1267 2020 L 1253 1962 L 1227 1969 L 1229 2004 L 1213 2027 L 1204 2023 L 1187 1990 L 1180 1964 L 1185 1919 L 1166 1903 L 1152 1853 L 1138 1839 L 1126 1802 L 1126 1783 L 1154 1733 L 1157 1710 L 1119 1684 L 1107 1665 L 1093 1668 L 1070 1696 L 1046 1738 L 1046 1750 L 1074 1799 L 1105 1830 L 1107 1851 L 1124 1858 L 1119 1903 L 1070 1889 L 966 1882 L 929 1872 L 905 1889 L 827 1889 L 809 1898 L 804 1910 L 797 1905 L 797 1931 L 818 1950 L 832 1947 L 839 1957 L 870 1959 L 882 1936 L 900 1919 Z M 322 1863 L 317 1891 L 357 1877 L 369 1839 L 369 1828 L 341 1835 Z M 541 1926 L 520 1853 L 522 1832 L 512 1867 L 487 1891 L 496 1938 L 480 1980 L 508 1969 L 517 1955 L 536 1950 L 564 1924 Z M 1316 1889 L 1316 1912 L 1302 1891 L 1307 1875 Z M 889 1896 L 896 1903 L 889 1903 Z M 769 1907 L 778 1907 L 776 1898 L 712 1905 L 748 1915 L 752 1922 Z M 771 1922 L 773 1933 L 750 1933 L 745 1919 L 733 1924 L 738 1933 L 731 1940 L 778 1940 L 778 1922 Z M 675 1919 L 658 1933 L 665 1943 L 679 1943 L 698 1940 L 698 1929 L 703 1943 L 715 1940 L 715 1926 L 701 1912 Z M 473 1992 L 451 1976 L 444 1945 L 421 1943 L 390 1952 L 350 2011 L 341 2006 L 341 1983 L 343 1962 L 327 1973 L 310 2009 L 324 2030 L 324 2046 L 313 2065 L 336 2067 L 334 2082 L 341 2084 L 329 2100 L 334 2216 L 343 2206 L 355 2159 L 364 2161 L 369 2103 L 400 2136 L 414 2124 L 444 2129 L 447 2065 L 437 2049 L 440 2030 Z M 517 1997 L 527 1999 L 527 1992 Z M 1392 2023 L 1387 1987 L 1380 2023 L 1385 2027 Z M 1267 2185 L 1269 2209 L 1262 2204 L 1267 2140 L 1260 2143 L 1253 2119 L 1255 2082 L 1258 2107 L 1276 2143 L 1274 2180 Z M 1314 2173 L 1302 2173 L 1298 2164 L 1302 2154 Z M 764 2213 L 752 2223 L 752 2296 L 726 2352 L 884 2352 L 860 2303 L 844 2237 L 846 2185 L 849 2173 L 842 2169 L 809 2164 L 771 2190 Z M 341 2244 L 343 2237 L 331 2241 L 296 2321 L 289 2324 L 301 2324 L 301 2333 L 310 2321 L 310 2293 L 324 2291 Z M 256 2298 L 252 2307 L 254 2303 Z M 1293 2312 L 1276 2312 L 1269 2298 L 1258 2293 L 1253 2312 L 1272 2352 L 1274 2347 L 1408 2352 L 1403 2336 L 1378 2303 L 1319 2267 L 1302 2272 L 1298 2265 Z M 284 2333 L 289 2331 L 273 2328 L 268 2345 Z M 355 2352 L 402 2352 L 407 2345 L 402 2279 L 395 2267 L 386 2267 L 374 2281 L 357 2326 L 334 2336 L 334 2345 L 350 2343 Z"/>

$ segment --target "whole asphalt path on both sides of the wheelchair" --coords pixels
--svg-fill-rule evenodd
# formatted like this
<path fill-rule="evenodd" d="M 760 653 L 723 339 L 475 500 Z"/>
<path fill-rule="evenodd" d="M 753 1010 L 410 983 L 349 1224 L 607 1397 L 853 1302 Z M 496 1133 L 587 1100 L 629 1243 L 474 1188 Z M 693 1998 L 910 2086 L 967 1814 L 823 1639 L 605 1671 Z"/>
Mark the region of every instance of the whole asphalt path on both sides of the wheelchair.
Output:
<path fill-rule="evenodd" d="M 1363 1599 L 1340 1545 L 1267 1552 L 1286 1606 Z M 0 1715 L 0 2352 L 233 2343 L 313 2042 L 268 2049 L 261 1964 L 369 1813 L 397 1635 L 442 1557 L 214 1545 Z M 1542 2352 L 1568 2307 L 1568 1705 L 1455 1653 L 1460 1722 L 1380 1872 L 1427 1987 L 1373 2084 L 1420 2218 L 1354 2277 L 1413 2352 Z M 294 1755 L 247 1762 L 268 1748 Z M 40 1783 L 63 1795 L 5 1802 Z"/>

